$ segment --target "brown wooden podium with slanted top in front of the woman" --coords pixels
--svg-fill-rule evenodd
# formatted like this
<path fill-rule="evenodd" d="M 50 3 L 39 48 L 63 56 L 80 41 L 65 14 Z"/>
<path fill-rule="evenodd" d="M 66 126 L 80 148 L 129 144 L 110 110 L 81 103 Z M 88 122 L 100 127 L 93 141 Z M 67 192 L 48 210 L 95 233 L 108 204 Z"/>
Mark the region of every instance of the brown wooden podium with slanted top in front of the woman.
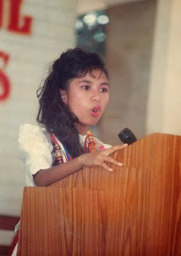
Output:
<path fill-rule="evenodd" d="M 112 173 L 25 187 L 18 255 L 181 255 L 181 137 L 151 134 L 113 156 L 124 167 Z"/>

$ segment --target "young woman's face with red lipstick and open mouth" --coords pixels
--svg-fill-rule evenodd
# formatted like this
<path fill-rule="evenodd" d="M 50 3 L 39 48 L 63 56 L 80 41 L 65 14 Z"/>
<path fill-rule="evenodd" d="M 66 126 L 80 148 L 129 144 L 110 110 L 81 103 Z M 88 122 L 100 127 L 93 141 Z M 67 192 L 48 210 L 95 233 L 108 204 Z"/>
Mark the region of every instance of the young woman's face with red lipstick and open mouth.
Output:
<path fill-rule="evenodd" d="M 61 90 L 61 97 L 77 116 L 79 133 L 86 134 L 89 126 L 99 121 L 108 104 L 108 78 L 102 70 L 92 70 L 92 76 L 87 73 L 83 78 L 73 78 L 69 90 Z"/>

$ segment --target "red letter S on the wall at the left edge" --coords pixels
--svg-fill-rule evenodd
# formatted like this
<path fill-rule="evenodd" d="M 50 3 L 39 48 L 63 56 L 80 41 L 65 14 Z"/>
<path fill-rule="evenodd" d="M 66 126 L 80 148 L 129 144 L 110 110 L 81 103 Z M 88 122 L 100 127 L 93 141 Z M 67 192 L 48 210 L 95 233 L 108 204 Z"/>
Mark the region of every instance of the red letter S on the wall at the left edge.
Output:
<path fill-rule="evenodd" d="M 10 79 L 4 73 L 9 58 L 9 54 L 0 51 L 0 62 L 3 63 L 2 68 L 0 68 L 0 102 L 6 100 L 10 96 Z"/>

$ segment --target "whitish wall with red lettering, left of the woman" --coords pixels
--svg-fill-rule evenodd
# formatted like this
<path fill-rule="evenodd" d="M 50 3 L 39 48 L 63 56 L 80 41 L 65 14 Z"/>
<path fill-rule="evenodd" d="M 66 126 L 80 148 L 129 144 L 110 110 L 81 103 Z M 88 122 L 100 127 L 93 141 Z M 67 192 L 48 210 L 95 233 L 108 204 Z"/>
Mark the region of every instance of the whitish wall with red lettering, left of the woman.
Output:
<path fill-rule="evenodd" d="M 18 156 L 19 126 L 36 118 L 36 90 L 47 64 L 76 42 L 76 0 L 24 0 L 16 26 L 10 9 L 18 2 L 2 1 L 0 8 L 0 214 L 6 215 L 20 214 L 26 184 Z"/>

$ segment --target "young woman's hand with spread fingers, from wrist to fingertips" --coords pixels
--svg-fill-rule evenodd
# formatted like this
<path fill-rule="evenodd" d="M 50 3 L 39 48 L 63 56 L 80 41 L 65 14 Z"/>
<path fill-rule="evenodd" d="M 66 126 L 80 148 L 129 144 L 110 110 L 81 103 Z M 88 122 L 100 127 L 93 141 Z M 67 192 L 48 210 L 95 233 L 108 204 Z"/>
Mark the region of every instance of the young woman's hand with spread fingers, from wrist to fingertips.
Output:
<path fill-rule="evenodd" d="M 121 162 L 116 161 L 114 158 L 109 155 L 114 153 L 117 150 L 122 150 L 124 147 L 128 146 L 128 144 L 112 146 L 107 150 L 95 151 L 88 154 L 82 154 L 79 157 L 79 161 L 82 166 L 90 167 L 90 166 L 101 166 L 105 170 L 112 171 L 113 169 L 109 167 L 106 162 L 111 162 L 116 166 L 123 166 Z"/>

